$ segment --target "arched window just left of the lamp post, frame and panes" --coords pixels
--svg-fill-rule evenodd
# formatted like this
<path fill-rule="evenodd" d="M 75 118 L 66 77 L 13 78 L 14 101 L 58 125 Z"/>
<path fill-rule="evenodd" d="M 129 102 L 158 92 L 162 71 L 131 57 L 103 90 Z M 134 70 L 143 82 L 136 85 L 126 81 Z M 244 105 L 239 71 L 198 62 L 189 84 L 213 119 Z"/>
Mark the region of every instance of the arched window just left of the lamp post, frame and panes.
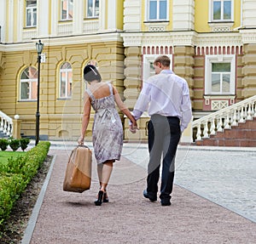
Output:
<path fill-rule="evenodd" d="M 38 70 L 27 67 L 20 77 L 20 100 L 37 100 Z"/>

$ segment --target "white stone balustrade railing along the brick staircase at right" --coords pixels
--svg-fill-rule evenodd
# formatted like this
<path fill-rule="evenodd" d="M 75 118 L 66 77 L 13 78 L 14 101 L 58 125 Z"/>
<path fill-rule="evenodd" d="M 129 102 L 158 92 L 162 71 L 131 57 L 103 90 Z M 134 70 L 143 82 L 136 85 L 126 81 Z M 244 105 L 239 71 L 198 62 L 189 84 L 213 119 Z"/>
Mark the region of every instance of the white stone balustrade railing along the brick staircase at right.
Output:
<path fill-rule="evenodd" d="M 239 122 L 252 120 L 253 116 L 256 116 L 256 95 L 192 122 L 192 128 L 196 129 L 195 139 L 209 138 Z"/>

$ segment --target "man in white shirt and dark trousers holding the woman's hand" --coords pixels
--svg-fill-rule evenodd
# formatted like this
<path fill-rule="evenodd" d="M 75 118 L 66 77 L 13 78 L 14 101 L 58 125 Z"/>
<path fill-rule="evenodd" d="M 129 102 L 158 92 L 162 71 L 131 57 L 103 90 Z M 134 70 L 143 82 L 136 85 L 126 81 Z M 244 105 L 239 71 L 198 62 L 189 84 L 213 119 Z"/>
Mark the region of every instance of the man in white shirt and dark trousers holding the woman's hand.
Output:
<path fill-rule="evenodd" d="M 143 83 L 143 89 L 132 111 L 136 120 L 142 116 L 143 111 L 148 110 L 150 116 L 147 190 L 143 191 L 143 196 L 150 201 L 157 200 L 162 156 L 160 184 L 162 206 L 171 205 L 177 145 L 181 133 L 187 128 L 192 116 L 188 84 L 170 70 L 170 63 L 166 55 L 161 55 L 154 60 L 156 75 L 149 77 Z M 131 126 L 130 129 L 132 132 Z"/>

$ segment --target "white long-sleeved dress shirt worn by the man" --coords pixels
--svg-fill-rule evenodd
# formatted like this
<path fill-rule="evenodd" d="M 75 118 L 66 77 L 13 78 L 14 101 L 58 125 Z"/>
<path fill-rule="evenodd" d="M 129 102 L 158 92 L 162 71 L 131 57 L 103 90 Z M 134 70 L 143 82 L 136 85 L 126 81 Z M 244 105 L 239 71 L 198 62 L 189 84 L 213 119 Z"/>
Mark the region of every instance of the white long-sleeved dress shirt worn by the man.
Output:
<path fill-rule="evenodd" d="M 188 83 L 171 70 L 163 70 L 149 77 L 143 82 L 143 89 L 132 114 L 137 120 L 143 111 L 148 111 L 149 116 L 177 116 L 183 132 L 192 117 Z"/>

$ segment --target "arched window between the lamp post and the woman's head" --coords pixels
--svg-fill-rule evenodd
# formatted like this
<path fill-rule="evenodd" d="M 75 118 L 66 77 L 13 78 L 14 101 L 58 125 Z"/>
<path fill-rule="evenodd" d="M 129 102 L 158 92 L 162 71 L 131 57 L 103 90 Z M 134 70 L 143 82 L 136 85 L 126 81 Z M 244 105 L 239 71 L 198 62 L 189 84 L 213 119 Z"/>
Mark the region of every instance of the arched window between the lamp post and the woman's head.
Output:
<path fill-rule="evenodd" d="M 60 98 L 67 99 L 72 96 L 72 67 L 69 63 L 61 65 L 60 71 Z"/>

